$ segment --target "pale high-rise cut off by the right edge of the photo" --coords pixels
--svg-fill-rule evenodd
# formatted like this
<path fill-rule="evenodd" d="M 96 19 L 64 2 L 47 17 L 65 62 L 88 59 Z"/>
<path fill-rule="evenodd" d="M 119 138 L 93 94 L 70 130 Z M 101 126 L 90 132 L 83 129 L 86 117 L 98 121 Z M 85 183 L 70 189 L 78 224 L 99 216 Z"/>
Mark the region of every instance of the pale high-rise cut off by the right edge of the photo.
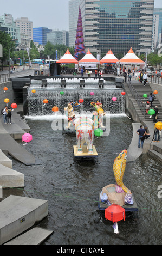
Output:
<path fill-rule="evenodd" d="M 152 51 L 162 42 L 162 8 L 154 8 L 152 27 Z"/>

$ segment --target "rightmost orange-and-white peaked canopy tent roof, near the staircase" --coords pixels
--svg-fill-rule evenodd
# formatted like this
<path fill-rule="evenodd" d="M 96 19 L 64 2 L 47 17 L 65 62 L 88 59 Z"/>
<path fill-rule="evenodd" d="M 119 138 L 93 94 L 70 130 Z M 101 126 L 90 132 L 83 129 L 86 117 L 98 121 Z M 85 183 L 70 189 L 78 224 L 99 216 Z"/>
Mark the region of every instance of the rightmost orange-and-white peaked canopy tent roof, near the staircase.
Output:
<path fill-rule="evenodd" d="M 138 58 L 135 53 L 131 49 L 128 51 L 128 53 L 119 60 L 120 64 L 134 64 L 134 65 L 145 65 L 145 62 L 143 62 L 143 60 L 141 60 L 140 58 Z"/>

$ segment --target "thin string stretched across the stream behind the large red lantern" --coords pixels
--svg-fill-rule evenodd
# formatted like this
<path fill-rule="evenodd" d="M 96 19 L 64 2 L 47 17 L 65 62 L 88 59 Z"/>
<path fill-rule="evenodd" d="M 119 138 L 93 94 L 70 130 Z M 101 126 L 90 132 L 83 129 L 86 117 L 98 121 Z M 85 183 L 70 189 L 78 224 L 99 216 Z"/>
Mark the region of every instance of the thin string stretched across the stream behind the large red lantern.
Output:
<path fill-rule="evenodd" d="M 12 189 L 15 189 L 15 190 L 23 190 L 23 191 L 31 191 L 31 192 L 35 192 L 35 193 L 42 193 L 42 194 L 50 194 L 50 192 L 42 192 L 42 191 L 34 191 L 34 190 L 24 190 L 23 188 L 18 188 L 18 187 L 3 187 L 3 188 L 12 188 Z M 90 202 L 94 202 L 94 203 L 99 203 L 99 200 L 92 200 L 90 198 L 78 198 L 78 197 L 75 197 L 75 196 L 65 196 L 64 194 L 57 194 L 57 193 L 52 193 L 51 195 L 53 196 L 59 196 L 59 197 L 66 197 L 66 198 L 69 198 L 69 199 L 75 199 L 75 200 L 85 200 L 85 201 L 90 201 Z M 107 205 L 108 207 L 109 205 Z M 122 205 L 121 207 L 123 207 L 124 205 Z M 129 205 L 129 208 L 134 208 L 134 206 L 131 206 Z M 162 209 L 151 209 L 151 208 L 146 208 L 146 207 L 138 207 L 138 209 L 144 209 L 144 210 L 151 210 L 151 211 L 161 211 L 162 212 Z"/>

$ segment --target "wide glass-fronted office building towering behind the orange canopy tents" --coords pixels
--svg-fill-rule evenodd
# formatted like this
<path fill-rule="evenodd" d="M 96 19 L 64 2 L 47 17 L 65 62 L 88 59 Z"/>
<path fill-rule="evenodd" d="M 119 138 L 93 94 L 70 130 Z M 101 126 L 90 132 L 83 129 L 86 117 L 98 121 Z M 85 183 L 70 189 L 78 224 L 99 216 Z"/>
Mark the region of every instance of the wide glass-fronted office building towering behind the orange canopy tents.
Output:
<path fill-rule="evenodd" d="M 104 56 L 151 52 L 154 0 L 81 0 L 86 50 Z"/>

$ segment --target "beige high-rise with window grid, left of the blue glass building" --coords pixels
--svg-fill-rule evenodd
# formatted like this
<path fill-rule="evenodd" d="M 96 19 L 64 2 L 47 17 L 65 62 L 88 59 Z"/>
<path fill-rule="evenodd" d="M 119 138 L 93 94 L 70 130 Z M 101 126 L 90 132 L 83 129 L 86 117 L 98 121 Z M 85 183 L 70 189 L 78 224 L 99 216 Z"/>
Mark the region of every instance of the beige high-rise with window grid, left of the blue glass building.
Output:
<path fill-rule="evenodd" d="M 28 35 L 29 40 L 33 40 L 33 21 L 29 21 L 28 18 L 21 17 L 15 19 L 16 26 L 20 28 L 20 33 Z"/>

